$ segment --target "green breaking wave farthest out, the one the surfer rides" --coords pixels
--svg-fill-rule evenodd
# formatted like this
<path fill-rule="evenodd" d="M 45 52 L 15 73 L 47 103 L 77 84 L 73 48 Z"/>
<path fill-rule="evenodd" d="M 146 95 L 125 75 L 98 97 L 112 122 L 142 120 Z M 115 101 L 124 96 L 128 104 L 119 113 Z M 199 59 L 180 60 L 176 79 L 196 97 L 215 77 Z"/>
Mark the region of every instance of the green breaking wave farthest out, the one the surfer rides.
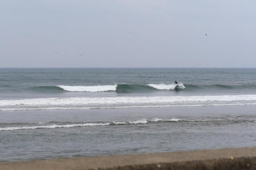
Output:
<path fill-rule="evenodd" d="M 178 86 L 177 86 L 178 85 Z M 148 92 L 154 90 L 208 90 L 208 89 L 256 89 L 256 85 L 226 85 L 226 84 L 114 84 L 99 86 L 39 86 L 32 87 L 35 91 L 52 91 L 52 92 L 107 92 L 116 91 L 117 93 L 129 92 Z"/>

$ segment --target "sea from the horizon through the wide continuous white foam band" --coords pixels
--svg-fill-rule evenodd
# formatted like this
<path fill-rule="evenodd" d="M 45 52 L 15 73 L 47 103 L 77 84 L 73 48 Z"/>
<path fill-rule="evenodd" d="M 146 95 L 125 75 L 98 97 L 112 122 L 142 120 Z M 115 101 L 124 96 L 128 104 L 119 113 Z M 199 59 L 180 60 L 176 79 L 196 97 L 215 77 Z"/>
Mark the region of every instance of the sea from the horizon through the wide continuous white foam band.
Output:
<path fill-rule="evenodd" d="M 256 69 L 0 69 L 0 73 L 2 111 L 256 103 Z"/>

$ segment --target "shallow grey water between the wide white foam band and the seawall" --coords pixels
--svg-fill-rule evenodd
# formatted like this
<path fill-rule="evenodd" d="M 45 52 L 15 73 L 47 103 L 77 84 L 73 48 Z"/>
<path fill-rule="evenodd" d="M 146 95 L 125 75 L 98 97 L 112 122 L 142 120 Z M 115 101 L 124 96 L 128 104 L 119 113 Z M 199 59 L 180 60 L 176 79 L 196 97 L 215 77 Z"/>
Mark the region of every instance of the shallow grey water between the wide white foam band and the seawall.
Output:
<path fill-rule="evenodd" d="M 0 126 L 19 130 L 0 132 L 0 158 L 14 161 L 250 147 L 256 145 L 255 108 L 2 111 Z"/>

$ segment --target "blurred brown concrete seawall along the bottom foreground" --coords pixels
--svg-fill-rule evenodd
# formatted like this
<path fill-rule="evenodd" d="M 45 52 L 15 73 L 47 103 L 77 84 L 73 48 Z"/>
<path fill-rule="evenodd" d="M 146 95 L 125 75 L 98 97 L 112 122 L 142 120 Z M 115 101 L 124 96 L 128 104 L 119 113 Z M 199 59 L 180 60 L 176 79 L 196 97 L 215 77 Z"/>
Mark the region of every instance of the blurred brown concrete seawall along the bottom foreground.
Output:
<path fill-rule="evenodd" d="M 0 169 L 256 169 L 256 147 L 31 160 Z"/>

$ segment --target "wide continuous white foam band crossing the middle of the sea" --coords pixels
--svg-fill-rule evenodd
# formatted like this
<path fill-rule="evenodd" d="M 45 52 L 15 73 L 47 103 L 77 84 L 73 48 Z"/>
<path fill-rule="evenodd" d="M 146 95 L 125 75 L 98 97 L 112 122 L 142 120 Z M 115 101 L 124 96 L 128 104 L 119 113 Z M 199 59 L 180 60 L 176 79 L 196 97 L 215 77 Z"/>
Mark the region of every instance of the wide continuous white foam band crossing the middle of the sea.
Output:
<path fill-rule="evenodd" d="M 255 105 L 256 95 L 69 97 L 0 100 L 0 110 L 95 109 L 177 106 Z"/>

